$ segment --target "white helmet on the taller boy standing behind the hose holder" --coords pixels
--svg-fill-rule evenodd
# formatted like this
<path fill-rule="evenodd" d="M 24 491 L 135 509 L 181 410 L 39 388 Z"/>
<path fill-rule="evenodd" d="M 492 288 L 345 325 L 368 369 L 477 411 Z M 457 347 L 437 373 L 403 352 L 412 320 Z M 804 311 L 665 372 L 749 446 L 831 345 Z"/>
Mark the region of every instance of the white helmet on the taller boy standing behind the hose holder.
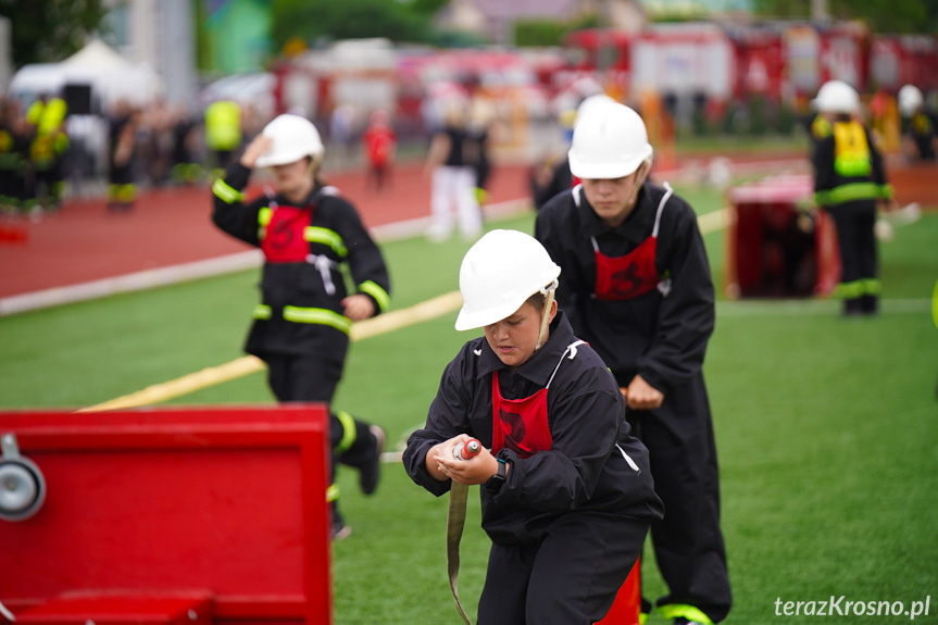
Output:
<path fill-rule="evenodd" d="M 570 171 L 584 179 L 622 178 L 650 162 L 652 152 L 638 113 L 617 102 L 591 105 L 573 128 Z"/>

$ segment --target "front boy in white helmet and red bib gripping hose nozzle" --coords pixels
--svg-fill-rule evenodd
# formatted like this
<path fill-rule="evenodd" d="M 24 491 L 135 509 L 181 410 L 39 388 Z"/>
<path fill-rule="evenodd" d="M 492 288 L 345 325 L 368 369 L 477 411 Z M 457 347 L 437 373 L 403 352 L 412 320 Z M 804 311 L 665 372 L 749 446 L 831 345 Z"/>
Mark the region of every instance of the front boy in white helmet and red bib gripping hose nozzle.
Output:
<path fill-rule="evenodd" d="M 492 230 L 468 250 L 455 328 L 484 336 L 447 365 L 403 454 L 433 495 L 481 485 L 492 546 L 478 625 L 600 621 L 662 515 L 615 379 L 558 310 L 559 275 L 520 232 Z M 454 460 L 470 437 L 487 449 Z"/>

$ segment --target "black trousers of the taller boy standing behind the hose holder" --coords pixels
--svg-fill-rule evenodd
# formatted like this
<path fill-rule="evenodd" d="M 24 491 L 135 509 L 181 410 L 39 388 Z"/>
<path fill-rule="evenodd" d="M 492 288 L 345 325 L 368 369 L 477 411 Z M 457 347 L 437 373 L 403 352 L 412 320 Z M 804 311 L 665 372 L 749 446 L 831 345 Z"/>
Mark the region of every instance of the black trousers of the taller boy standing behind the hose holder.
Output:
<path fill-rule="evenodd" d="M 658 410 L 626 416 L 648 448 L 654 491 L 664 503 L 664 518 L 651 524 L 654 557 L 670 591 L 658 605 L 691 605 L 718 623 L 729 612 L 731 593 L 703 374 L 668 390 Z"/>

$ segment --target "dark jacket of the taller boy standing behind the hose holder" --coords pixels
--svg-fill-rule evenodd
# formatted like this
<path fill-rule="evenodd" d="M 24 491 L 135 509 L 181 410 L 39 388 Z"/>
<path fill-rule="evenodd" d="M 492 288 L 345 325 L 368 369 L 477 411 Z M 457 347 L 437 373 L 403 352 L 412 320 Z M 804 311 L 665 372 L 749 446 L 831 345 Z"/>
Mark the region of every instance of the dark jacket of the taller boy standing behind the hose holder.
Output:
<path fill-rule="evenodd" d="M 665 189 L 645 184 L 636 207 L 615 228 L 592 211 L 580 189 L 554 197 L 537 215 L 535 237 L 562 268 L 556 301 L 622 386 L 640 374 L 665 395 L 701 372 L 714 327 L 713 279 L 690 205 L 672 195 L 664 205 L 654 264 L 662 283 L 635 299 L 598 301 L 590 236 L 608 257 L 623 257 L 651 236 Z M 666 292 L 666 296 L 665 296 Z"/>

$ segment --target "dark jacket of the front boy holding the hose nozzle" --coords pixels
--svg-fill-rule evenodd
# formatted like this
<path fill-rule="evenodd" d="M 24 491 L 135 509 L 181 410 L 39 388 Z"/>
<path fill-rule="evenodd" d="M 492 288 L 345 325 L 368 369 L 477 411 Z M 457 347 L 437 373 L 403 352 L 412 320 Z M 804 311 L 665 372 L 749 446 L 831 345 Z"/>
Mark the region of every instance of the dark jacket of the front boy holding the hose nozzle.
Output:
<path fill-rule="evenodd" d="M 618 385 L 589 346 L 577 346 L 573 359 L 564 355 L 576 340 L 559 313 L 548 341 L 514 372 L 485 337 L 468 341 L 443 372 L 426 427 L 408 440 L 408 474 L 432 493 L 443 495 L 451 482 L 430 476 L 427 451 L 462 433 L 491 447 L 492 372 L 498 371 L 505 399 L 521 399 L 545 388 L 563 359 L 548 389 L 551 449 L 527 459 L 502 449 L 497 457 L 511 463 L 504 486 L 495 495 L 479 488 L 483 528 L 493 542 L 537 542 L 552 522 L 580 511 L 606 512 L 611 518 L 662 516 L 648 450 L 629 433 Z"/>

